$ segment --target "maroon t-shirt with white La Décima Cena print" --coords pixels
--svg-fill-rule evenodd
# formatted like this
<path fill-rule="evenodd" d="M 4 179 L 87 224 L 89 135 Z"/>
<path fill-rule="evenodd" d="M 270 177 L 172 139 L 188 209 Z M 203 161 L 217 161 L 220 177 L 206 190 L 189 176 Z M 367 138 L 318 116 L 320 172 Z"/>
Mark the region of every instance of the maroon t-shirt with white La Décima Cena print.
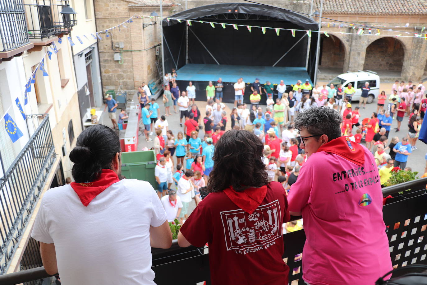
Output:
<path fill-rule="evenodd" d="M 270 182 L 252 214 L 236 206 L 224 191 L 210 193 L 180 232 L 196 247 L 209 242 L 212 285 L 283 285 L 288 282 L 289 267 L 282 259 L 282 223 L 289 219 L 283 186 Z"/>

